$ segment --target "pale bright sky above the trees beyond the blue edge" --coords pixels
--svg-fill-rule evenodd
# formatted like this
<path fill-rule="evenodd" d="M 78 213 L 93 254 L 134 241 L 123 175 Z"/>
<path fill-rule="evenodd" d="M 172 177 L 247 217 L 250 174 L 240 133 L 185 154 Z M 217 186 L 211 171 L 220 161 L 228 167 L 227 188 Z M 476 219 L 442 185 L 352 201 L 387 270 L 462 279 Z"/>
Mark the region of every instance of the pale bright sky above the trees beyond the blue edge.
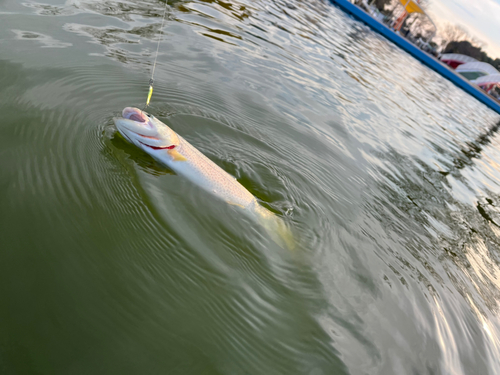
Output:
<path fill-rule="evenodd" d="M 500 58 L 500 0 L 429 0 L 429 15 L 438 24 L 460 24 L 486 44 L 483 50 Z"/>

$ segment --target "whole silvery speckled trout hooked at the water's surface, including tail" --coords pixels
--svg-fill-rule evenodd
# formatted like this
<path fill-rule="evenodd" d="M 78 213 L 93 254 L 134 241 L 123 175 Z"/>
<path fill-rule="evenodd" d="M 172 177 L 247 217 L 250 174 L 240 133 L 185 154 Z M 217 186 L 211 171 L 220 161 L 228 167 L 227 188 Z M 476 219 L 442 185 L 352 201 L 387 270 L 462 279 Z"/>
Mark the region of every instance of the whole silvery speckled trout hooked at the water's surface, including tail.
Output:
<path fill-rule="evenodd" d="M 178 175 L 253 216 L 280 245 L 293 248 L 293 237 L 283 221 L 262 207 L 233 176 L 203 155 L 156 117 L 127 107 L 115 117 L 118 131 Z"/>

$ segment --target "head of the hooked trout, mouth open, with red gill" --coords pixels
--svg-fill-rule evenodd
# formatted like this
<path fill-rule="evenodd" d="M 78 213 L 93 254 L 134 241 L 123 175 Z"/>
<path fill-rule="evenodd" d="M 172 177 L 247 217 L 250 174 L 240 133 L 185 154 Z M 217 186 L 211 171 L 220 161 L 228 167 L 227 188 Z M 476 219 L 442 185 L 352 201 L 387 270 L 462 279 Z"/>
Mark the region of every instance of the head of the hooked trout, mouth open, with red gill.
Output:
<path fill-rule="evenodd" d="M 172 129 L 138 108 L 125 108 L 122 117 L 115 117 L 113 121 L 126 140 L 147 153 L 171 150 L 179 145 L 179 137 Z"/>

